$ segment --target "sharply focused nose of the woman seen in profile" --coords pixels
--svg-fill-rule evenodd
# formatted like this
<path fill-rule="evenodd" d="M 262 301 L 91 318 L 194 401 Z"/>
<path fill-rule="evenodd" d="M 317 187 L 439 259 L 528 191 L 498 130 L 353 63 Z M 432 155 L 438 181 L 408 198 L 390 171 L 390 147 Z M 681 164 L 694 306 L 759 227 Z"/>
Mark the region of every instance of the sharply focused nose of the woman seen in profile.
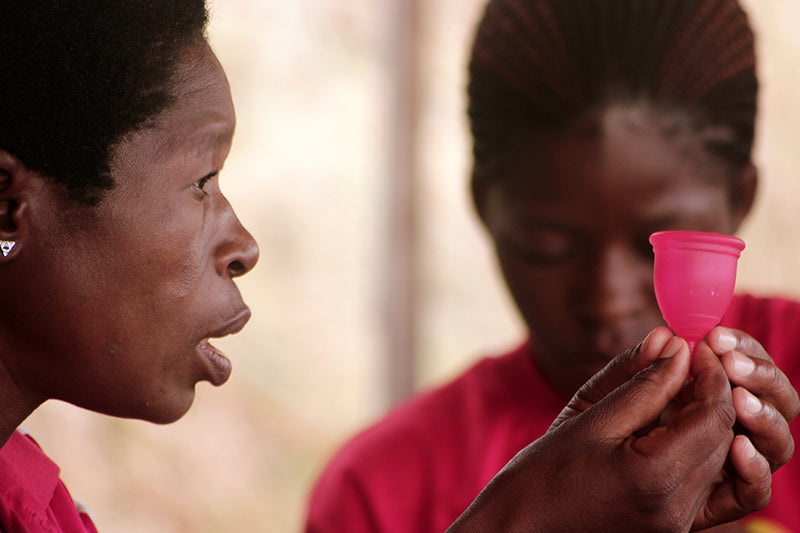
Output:
<path fill-rule="evenodd" d="M 258 262 L 258 244 L 222 195 L 219 211 L 221 239 L 215 250 L 217 273 L 230 278 L 242 276 Z"/>

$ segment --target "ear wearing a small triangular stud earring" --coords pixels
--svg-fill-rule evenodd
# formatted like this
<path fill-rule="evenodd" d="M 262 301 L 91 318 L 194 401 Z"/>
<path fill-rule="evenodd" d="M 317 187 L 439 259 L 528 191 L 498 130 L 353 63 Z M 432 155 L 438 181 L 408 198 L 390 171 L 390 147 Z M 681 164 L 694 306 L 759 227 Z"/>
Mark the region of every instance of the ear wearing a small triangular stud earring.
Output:
<path fill-rule="evenodd" d="M 0 253 L 0 263 L 13 260 L 25 248 L 30 230 L 30 199 L 33 189 L 38 187 L 34 176 L 38 174 L 0 149 L 0 246 L 5 248 Z"/>

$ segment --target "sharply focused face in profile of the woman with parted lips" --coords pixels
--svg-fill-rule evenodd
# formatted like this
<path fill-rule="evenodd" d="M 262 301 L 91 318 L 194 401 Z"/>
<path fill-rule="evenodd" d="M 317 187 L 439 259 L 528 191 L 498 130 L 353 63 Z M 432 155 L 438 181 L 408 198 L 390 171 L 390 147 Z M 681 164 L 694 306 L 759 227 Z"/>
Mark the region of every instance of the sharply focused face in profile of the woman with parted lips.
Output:
<path fill-rule="evenodd" d="M 170 422 L 198 381 L 220 385 L 230 374 L 207 339 L 248 320 L 233 278 L 258 248 L 220 192 L 235 125 L 222 68 L 203 43 L 178 71 L 174 104 L 114 149 L 116 186 L 101 203 L 65 211 L 49 195 L 42 210 L 52 216 L 27 309 L 40 316 L 25 325 L 34 339 L 25 371 L 45 397 Z"/>

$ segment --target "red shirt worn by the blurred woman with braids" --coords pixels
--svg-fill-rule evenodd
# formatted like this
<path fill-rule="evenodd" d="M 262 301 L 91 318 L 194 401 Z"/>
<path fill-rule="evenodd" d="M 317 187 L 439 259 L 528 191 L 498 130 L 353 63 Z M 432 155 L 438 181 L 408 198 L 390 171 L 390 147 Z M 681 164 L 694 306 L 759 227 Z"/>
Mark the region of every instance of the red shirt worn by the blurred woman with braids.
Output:
<path fill-rule="evenodd" d="M 737 296 L 723 324 L 758 339 L 800 386 L 800 303 Z M 312 491 L 306 532 L 441 533 L 564 404 L 527 344 L 483 359 L 348 442 Z M 791 428 L 800 443 L 798 423 Z M 798 502 L 800 461 L 790 461 L 758 516 L 800 531 Z"/>

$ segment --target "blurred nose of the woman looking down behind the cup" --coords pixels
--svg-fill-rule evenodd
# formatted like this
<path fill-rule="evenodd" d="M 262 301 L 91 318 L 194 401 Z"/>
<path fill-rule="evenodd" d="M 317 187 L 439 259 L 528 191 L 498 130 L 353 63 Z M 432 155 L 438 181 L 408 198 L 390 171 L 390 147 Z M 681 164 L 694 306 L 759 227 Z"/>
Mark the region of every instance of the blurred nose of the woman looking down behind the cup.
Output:
<path fill-rule="evenodd" d="M 587 265 L 584 303 L 590 319 L 614 324 L 642 312 L 652 292 L 652 260 L 625 243 L 607 243 Z"/>

